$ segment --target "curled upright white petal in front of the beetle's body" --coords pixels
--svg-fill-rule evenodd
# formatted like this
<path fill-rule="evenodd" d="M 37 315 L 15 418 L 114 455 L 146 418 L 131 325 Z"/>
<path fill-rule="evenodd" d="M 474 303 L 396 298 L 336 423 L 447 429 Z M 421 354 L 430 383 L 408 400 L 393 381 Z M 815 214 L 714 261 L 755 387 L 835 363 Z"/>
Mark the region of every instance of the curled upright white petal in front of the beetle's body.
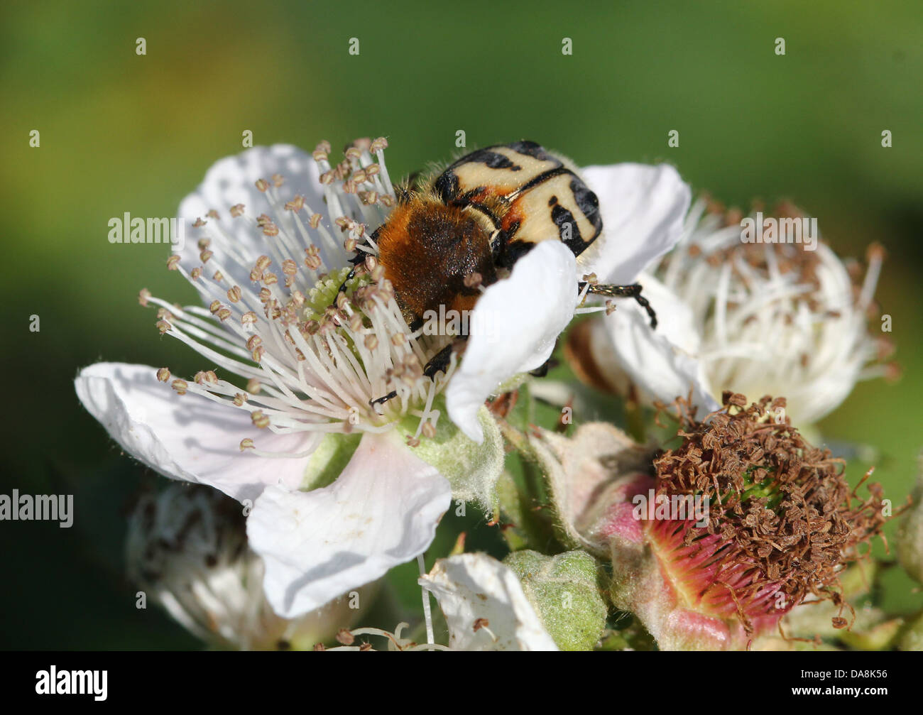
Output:
<path fill-rule="evenodd" d="M 573 253 L 559 241 L 544 241 L 478 299 L 462 364 L 446 389 L 449 415 L 465 435 L 483 441 L 478 409 L 509 377 L 545 363 L 577 297 Z"/>

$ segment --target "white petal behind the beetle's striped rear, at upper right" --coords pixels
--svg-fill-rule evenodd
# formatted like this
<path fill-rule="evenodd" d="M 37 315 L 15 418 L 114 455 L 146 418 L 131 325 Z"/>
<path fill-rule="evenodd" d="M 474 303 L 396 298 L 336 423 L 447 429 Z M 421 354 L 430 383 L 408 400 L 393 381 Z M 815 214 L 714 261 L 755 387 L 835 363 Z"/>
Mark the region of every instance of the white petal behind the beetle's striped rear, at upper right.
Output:
<path fill-rule="evenodd" d="M 669 164 L 588 166 L 581 172 L 599 197 L 603 234 L 578 259 L 602 283 L 634 282 L 682 235 L 691 192 Z"/>

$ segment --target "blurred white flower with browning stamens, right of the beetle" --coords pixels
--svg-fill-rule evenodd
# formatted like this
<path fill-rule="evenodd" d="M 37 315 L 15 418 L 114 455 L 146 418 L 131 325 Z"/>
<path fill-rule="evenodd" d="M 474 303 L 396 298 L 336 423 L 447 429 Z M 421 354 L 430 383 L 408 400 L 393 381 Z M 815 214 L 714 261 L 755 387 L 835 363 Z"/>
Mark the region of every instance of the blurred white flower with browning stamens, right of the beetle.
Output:
<path fill-rule="evenodd" d="M 815 423 L 857 381 L 893 372 L 880 362 L 889 342 L 869 326 L 883 252 L 869 248 L 857 280 L 857 266 L 822 242 L 742 243 L 740 218 L 698 201 L 677 247 L 640 279 L 660 325 L 651 331 L 636 306 L 619 305 L 589 328 L 590 357 L 610 386 L 629 378 L 648 398 L 691 390 L 712 411 L 724 390 L 785 394 L 794 422 Z"/>

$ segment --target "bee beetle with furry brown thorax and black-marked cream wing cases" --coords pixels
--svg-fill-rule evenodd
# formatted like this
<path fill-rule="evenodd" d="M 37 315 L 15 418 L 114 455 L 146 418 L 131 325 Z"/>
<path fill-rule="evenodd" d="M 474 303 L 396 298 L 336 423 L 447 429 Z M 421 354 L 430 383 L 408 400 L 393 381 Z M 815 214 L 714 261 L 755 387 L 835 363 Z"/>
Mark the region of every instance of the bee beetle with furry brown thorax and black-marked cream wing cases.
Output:
<path fill-rule="evenodd" d="M 438 175 L 400 187 L 397 197 L 397 206 L 371 240 L 412 328 L 440 305 L 472 310 L 480 287 L 508 275 L 535 244 L 561 241 L 580 256 L 603 231 L 596 195 L 569 161 L 533 141 L 477 149 Z M 360 252 L 355 257 L 346 280 L 365 256 Z M 340 290 L 345 286 L 344 281 Z M 584 287 L 578 282 L 574 290 Z M 656 327 L 653 309 L 637 283 L 591 284 L 588 291 L 634 298 Z M 451 345 L 438 352 L 424 373 L 432 378 L 444 371 L 451 352 Z"/>

